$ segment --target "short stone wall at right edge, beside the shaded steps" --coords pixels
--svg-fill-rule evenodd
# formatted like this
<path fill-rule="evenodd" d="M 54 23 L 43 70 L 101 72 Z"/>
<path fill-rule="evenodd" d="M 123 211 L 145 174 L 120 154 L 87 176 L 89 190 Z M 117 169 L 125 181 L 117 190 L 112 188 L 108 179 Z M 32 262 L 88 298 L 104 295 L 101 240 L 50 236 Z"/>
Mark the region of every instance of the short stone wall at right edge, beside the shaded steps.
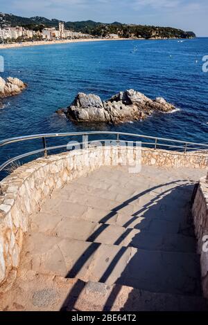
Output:
<path fill-rule="evenodd" d="M 208 174 L 207 174 L 208 176 Z M 208 178 L 207 178 L 208 179 Z M 200 179 L 192 214 L 198 239 L 200 254 L 202 289 L 208 299 L 208 182 L 206 177 Z M 207 236 L 207 237 L 206 237 Z"/>

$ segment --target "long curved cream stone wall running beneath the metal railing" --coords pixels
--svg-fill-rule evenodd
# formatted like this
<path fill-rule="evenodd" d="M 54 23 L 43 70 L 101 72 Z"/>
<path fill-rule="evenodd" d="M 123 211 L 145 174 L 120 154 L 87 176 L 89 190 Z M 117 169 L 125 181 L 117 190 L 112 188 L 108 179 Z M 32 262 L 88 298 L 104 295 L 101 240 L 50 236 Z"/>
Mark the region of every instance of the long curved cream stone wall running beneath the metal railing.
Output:
<path fill-rule="evenodd" d="M 206 155 L 178 154 L 132 147 L 92 147 L 38 158 L 17 168 L 1 181 L 0 194 L 0 291 L 10 288 L 17 275 L 23 235 L 30 215 L 44 199 L 74 178 L 103 165 L 146 165 L 206 168 Z"/>

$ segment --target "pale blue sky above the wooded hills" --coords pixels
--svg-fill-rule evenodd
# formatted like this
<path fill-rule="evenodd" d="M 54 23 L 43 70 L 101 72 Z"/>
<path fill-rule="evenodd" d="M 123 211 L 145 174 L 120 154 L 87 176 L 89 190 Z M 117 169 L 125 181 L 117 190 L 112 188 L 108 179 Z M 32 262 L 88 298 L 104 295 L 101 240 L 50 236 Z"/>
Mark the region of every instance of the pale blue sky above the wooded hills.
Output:
<path fill-rule="evenodd" d="M 0 0 L 0 11 L 64 21 L 173 26 L 208 36 L 207 0 Z"/>

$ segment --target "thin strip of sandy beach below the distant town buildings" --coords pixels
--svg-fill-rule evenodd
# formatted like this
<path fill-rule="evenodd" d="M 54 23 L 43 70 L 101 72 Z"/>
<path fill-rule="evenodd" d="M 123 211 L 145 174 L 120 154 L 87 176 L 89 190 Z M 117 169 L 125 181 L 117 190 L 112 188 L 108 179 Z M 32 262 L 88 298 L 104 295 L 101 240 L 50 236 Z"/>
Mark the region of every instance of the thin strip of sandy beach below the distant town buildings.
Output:
<path fill-rule="evenodd" d="M 128 41 L 130 39 L 64 39 L 58 41 L 25 41 L 24 43 L 12 43 L 12 44 L 0 44 L 0 49 L 4 48 L 21 48 L 26 46 L 42 46 L 42 45 L 54 45 L 54 44 L 67 44 L 67 43 L 79 43 L 83 41 Z M 132 39 L 131 39 L 132 40 Z"/>

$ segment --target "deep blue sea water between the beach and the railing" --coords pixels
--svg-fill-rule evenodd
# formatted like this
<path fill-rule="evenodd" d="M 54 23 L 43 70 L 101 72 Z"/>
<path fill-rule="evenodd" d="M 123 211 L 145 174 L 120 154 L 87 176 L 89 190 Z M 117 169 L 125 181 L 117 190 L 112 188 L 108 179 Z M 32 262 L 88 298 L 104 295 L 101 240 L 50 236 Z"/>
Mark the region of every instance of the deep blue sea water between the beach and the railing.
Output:
<path fill-rule="evenodd" d="M 5 59 L 1 77 L 19 77 L 26 91 L 3 100 L 0 140 L 35 133 L 107 130 L 177 140 L 208 142 L 208 73 L 202 57 L 208 38 L 161 41 L 97 41 L 0 50 Z M 73 124 L 55 110 L 69 106 L 78 92 L 103 100 L 118 91 L 135 89 L 148 97 L 164 97 L 179 108 L 155 113 L 142 122 L 116 126 Z M 40 140 L 39 140 L 40 141 Z M 36 144 L 0 149 L 0 163 Z"/>

